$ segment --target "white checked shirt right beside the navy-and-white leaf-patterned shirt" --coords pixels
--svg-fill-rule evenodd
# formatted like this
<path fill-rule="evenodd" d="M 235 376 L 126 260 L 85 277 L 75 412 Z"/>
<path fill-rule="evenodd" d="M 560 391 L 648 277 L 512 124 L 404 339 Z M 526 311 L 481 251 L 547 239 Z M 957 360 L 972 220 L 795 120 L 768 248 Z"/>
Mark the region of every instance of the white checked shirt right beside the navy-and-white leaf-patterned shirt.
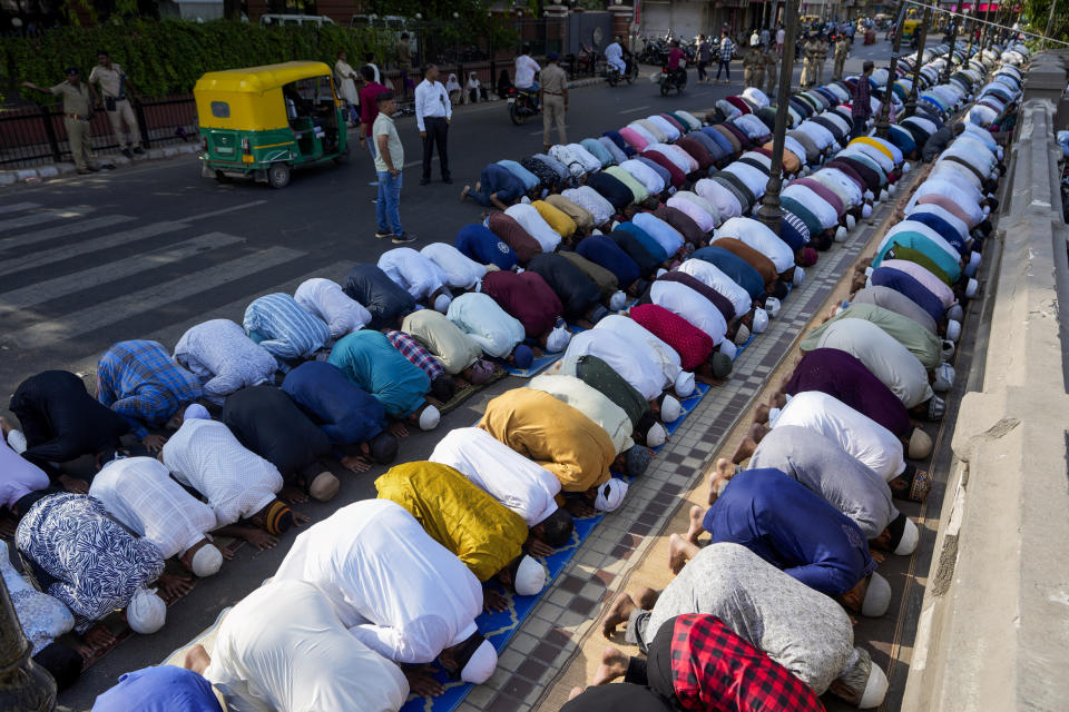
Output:
<path fill-rule="evenodd" d="M 89 494 L 119 524 L 143 536 L 170 558 L 216 527 L 215 512 L 170 478 L 153 457 L 124 457 L 97 473 Z"/>

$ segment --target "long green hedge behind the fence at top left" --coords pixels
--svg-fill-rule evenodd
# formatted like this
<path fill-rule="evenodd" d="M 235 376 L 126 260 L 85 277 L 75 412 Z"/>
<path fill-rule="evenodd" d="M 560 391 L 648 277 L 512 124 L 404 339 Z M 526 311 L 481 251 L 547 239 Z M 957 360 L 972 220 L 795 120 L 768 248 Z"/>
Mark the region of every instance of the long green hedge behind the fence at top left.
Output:
<path fill-rule="evenodd" d="M 97 63 L 97 50 L 107 49 L 121 65 L 134 88 L 147 97 L 186 93 L 207 71 L 255 67 L 292 60 L 318 60 L 333 67 L 339 50 L 354 67 L 364 52 L 388 57 L 394 38 L 389 32 L 336 24 L 262 28 L 247 22 L 215 20 L 134 21 L 92 28 L 58 28 L 42 37 L 0 38 L 0 73 L 9 89 L 32 101 L 50 101 L 20 89 L 22 81 L 48 87 L 63 79 L 63 69 L 78 67 L 84 76 Z"/>

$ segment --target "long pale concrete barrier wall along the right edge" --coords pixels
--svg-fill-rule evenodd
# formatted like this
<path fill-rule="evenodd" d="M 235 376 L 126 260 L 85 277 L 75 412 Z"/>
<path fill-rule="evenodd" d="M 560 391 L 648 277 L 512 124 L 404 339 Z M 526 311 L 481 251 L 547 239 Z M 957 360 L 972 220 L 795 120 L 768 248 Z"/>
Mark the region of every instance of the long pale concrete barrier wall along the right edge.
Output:
<path fill-rule="evenodd" d="M 1037 69 L 1037 93 L 1065 88 L 1060 61 Z M 1069 230 L 1053 139 L 1061 89 L 1026 92 L 984 250 L 983 368 L 955 424 L 902 705 L 911 712 L 1069 709 L 1069 332 L 1060 308 Z"/>

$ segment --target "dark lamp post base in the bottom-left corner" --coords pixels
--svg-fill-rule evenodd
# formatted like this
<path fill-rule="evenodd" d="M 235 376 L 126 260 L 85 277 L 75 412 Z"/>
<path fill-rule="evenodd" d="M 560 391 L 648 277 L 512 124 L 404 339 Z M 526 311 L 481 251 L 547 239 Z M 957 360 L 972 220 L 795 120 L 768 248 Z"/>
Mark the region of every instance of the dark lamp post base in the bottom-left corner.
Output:
<path fill-rule="evenodd" d="M 56 681 L 30 659 L 30 642 L 0 578 L 0 712 L 51 712 Z"/>

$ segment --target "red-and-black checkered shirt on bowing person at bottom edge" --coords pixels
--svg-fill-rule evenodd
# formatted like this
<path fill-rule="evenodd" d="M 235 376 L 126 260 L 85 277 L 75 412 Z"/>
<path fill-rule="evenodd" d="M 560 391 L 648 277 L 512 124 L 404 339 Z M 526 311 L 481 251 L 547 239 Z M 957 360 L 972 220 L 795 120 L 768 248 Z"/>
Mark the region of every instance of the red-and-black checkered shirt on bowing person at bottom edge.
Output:
<path fill-rule="evenodd" d="M 715 615 L 676 617 L 671 674 L 684 710 L 703 712 L 812 712 L 816 693 Z"/>

